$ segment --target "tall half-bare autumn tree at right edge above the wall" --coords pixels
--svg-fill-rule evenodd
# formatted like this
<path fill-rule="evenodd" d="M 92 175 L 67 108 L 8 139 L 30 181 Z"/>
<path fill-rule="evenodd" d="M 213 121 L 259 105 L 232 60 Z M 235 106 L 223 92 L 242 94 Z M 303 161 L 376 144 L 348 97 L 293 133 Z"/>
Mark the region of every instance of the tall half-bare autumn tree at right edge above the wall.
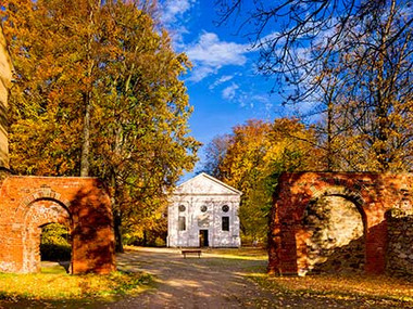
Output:
<path fill-rule="evenodd" d="M 343 158 L 355 170 L 410 170 L 412 15 L 397 1 L 376 5 L 366 4 L 365 15 L 347 28 L 347 40 L 356 43 L 342 55 L 346 66 L 339 74 L 348 96 L 343 121 L 351 124 L 345 150 L 358 144 L 360 155 L 345 153 Z"/>

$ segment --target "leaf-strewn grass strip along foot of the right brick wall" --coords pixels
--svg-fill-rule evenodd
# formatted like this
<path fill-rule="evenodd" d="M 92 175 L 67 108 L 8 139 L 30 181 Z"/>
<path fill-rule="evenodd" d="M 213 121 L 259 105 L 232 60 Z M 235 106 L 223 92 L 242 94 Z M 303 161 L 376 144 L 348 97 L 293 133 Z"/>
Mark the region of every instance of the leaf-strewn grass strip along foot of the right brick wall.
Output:
<path fill-rule="evenodd" d="M 389 301 L 389 306 L 400 305 L 413 308 L 413 283 L 406 280 L 363 274 L 274 276 L 266 274 L 267 254 L 262 248 L 206 249 L 205 253 L 228 259 L 228 263 L 237 262 L 237 260 L 265 261 L 262 266 L 249 267 L 247 275 L 275 294 L 310 295 L 335 299 L 367 298 Z"/>

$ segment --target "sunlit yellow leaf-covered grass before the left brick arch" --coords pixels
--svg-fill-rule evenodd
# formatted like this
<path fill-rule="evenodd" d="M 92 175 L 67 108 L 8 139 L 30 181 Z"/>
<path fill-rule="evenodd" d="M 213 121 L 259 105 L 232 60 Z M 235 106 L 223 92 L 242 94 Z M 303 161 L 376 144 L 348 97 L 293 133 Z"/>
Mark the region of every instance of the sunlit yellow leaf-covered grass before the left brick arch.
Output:
<path fill-rule="evenodd" d="M 118 296 L 135 295 L 151 284 L 143 273 L 113 272 L 108 275 L 70 275 L 61 267 L 48 267 L 41 273 L 0 273 L 0 299 L 67 301 L 93 299 L 110 301 Z"/>

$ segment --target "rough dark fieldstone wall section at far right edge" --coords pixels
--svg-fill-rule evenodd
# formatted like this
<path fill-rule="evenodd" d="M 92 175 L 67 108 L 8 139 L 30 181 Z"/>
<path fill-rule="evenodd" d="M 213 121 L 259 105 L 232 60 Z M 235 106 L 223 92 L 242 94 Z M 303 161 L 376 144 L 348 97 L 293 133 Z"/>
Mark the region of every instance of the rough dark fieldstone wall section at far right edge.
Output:
<path fill-rule="evenodd" d="M 413 210 L 390 209 L 386 213 L 388 229 L 387 272 L 413 276 Z"/>

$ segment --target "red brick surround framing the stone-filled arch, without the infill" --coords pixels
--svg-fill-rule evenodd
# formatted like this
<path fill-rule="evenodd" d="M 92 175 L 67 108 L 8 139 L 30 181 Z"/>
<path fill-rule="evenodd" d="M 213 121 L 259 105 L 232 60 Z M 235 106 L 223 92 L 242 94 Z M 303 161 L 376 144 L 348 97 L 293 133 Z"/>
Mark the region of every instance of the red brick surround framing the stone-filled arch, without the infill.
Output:
<path fill-rule="evenodd" d="M 412 173 L 302 172 L 283 173 L 271 214 L 268 272 L 305 272 L 309 233 L 303 224 L 309 203 L 341 196 L 354 203 L 364 226 L 367 273 L 386 270 L 387 222 L 391 208 L 412 209 Z"/>

